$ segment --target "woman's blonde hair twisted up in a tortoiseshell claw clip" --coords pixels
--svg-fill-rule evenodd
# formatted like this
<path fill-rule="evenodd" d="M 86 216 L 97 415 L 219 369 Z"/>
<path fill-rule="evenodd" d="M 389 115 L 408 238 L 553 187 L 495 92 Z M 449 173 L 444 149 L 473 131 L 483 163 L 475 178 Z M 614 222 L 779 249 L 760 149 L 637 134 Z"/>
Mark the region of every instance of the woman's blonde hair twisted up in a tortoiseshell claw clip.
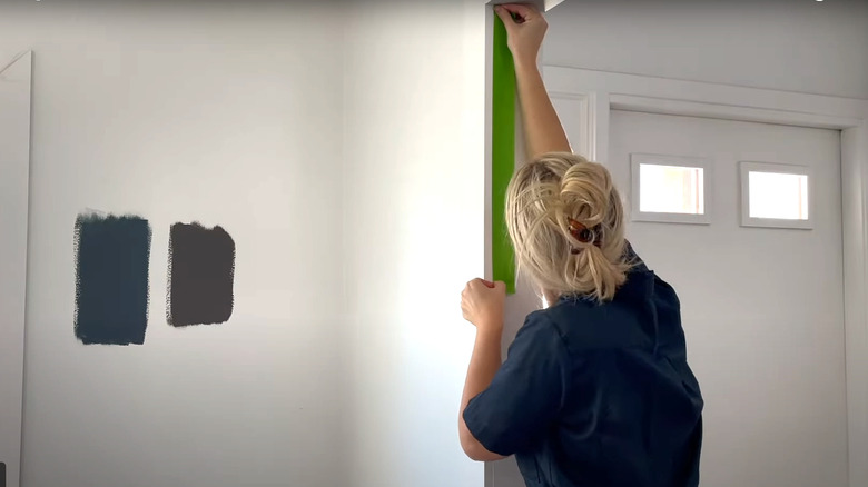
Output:
<path fill-rule="evenodd" d="M 506 227 L 519 269 L 546 291 L 611 300 L 627 280 L 624 210 L 601 165 L 568 152 L 521 167 L 506 190 Z M 591 232 L 576 236 L 571 221 Z"/>

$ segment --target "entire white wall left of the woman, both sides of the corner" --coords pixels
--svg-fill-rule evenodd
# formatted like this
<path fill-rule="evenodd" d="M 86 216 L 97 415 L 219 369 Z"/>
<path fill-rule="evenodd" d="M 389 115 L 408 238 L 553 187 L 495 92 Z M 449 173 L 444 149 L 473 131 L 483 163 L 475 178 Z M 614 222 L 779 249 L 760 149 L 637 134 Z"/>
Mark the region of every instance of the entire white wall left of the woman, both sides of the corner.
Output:
<path fill-rule="evenodd" d="M 24 487 L 483 485 L 456 425 L 484 2 L 335 4 L 3 6 L 36 60 Z M 87 208 L 151 222 L 145 346 L 73 337 Z M 193 219 L 236 239 L 236 309 L 176 330 Z"/>

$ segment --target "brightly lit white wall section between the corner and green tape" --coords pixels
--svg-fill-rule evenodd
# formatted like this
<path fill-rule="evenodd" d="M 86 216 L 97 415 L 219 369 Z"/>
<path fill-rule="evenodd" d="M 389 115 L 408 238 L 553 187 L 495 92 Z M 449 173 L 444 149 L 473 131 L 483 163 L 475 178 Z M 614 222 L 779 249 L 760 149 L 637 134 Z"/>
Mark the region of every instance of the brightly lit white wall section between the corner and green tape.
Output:
<path fill-rule="evenodd" d="M 345 71 L 353 485 L 483 485 L 458 446 L 484 270 L 485 9 L 361 2 Z"/>

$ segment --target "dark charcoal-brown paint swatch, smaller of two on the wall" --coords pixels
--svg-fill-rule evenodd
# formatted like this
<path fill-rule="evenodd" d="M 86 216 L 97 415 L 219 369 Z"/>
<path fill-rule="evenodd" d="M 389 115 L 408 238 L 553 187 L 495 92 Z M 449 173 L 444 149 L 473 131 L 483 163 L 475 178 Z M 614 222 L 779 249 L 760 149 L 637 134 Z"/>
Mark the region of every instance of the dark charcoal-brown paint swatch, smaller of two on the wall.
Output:
<path fill-rule="evenodd" d="M 233 314 L 235 241 L 221 227 L 175 223 L 169 235 L 169 325 L 214 325 Z"/>

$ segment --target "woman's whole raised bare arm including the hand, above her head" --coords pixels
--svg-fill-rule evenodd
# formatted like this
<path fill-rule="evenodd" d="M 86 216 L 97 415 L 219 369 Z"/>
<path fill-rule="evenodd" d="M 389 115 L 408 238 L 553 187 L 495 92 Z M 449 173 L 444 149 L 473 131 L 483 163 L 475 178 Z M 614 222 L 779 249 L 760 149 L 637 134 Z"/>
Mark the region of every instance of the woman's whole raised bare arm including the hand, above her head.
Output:
<path fill-rule="evenodd" d="M 495 12 L 506 26 L 515 62 L 527 158 L 532 160 L 545 152 L 572 152 L 536 64 L 549 28 L 545 18 L 534 7 L 525 4 L 500 6 Z"/>

